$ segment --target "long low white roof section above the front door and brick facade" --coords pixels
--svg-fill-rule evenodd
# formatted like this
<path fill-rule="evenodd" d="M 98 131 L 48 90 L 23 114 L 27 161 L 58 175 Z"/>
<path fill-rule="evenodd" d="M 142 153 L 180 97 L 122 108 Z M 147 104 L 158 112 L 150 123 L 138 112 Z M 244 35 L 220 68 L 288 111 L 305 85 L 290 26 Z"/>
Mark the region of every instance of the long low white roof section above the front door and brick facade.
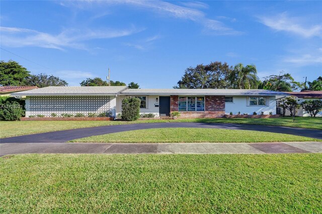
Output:
<path fill-rule="evenodd" d="M 287 95 L 280 91 L 264 89 L 126 89 L 127 95 Z"/>

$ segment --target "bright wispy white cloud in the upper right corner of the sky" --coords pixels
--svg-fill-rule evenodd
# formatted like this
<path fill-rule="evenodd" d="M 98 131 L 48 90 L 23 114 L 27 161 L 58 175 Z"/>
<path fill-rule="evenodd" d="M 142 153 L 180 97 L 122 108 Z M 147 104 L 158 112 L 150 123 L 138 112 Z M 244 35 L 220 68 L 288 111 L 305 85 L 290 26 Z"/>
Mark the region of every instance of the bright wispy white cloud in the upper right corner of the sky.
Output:
<path fill-rule="evenodd" d="M 321 25 L 305 24 L 303 18 L 289 17 L 286 13 L 274 17 L 259 17 L 260 22 L 276 31 L 285 31 L 305 38 L 322 36 Z"/>

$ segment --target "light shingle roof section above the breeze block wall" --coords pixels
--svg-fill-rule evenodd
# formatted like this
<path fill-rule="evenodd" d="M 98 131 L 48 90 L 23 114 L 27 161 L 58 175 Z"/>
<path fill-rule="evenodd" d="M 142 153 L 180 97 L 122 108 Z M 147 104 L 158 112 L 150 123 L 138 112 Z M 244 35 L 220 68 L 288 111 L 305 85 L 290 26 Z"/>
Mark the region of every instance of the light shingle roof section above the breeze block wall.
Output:
<path fill-rule="evenodd" d="M 12 93 L 14 96 L 41 95 L 115 95 L 127 86 L 49 86 Z"/>

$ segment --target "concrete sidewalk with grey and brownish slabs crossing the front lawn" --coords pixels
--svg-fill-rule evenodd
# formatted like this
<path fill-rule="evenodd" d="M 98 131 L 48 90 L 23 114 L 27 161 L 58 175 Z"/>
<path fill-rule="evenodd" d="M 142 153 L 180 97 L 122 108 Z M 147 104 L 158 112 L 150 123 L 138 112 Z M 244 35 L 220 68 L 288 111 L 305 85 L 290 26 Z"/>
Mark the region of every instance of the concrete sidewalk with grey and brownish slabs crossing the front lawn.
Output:
<path fill-rule="evenodd" d="M 321 142 L 287 143 L 9 143 L 0 156 L 29 153 L 65 154 L 275 154 L 322 153 Z"/>

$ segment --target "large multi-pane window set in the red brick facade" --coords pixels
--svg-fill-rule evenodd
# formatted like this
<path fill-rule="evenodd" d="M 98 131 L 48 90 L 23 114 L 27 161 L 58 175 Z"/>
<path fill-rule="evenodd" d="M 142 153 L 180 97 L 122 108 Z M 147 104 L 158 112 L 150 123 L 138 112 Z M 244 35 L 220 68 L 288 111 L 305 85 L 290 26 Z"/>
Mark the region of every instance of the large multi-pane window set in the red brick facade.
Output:
<path fill-rule="evenodd" d="M 203 112 L 203 111 L 205 111 L 205 97 L 179 96 L 179 112 Z"/>

